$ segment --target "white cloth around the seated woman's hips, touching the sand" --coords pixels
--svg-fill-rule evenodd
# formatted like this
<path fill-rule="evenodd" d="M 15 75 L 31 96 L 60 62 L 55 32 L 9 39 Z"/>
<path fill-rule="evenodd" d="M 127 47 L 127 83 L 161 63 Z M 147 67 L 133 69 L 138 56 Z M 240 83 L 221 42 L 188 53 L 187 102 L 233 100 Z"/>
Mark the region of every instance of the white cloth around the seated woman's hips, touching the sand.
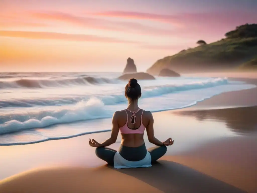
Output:
<path fill-rule="evenodd" d="M 116 152 L 114 155 L 114 168 L 148 168 L 151 167 L 151 155 L 147 151 L 144 159 L 139 161 L 128 161 L 121 156 L 119 152 Z"/>

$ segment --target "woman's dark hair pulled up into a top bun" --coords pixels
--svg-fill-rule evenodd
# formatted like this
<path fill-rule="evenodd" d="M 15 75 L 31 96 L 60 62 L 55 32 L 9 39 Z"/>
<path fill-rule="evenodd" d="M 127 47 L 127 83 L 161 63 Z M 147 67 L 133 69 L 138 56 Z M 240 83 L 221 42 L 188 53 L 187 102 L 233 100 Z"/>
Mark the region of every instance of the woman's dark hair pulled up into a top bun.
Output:
<path fill-rule="evenodd" d="M 141 96 L 141 87 L 135 78 L 131 78 L 125 87 L 125 96 L 131 100 L 136 100 Z"/>

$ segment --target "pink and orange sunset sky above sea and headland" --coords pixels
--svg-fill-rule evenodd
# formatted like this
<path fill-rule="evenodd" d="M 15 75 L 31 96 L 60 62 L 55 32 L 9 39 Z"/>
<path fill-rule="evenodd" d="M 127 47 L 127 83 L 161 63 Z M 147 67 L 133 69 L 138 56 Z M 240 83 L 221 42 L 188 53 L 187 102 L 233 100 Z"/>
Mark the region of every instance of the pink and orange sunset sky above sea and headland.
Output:
<path fill-rule="evenodd" d="M 0 72 L 139 71 L 257 23 L 256 0 L 0 0 Z"/>

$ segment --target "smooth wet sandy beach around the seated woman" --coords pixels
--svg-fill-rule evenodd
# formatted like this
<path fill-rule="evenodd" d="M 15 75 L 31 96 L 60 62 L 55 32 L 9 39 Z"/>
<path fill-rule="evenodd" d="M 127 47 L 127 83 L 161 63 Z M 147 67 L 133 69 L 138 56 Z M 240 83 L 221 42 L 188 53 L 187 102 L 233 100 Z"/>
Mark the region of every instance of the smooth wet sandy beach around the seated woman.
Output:
<path fill-rule="evenodd" d="M 254 77 L 233 80 L 257 85 Z M 256 96 L 256 88 L 227 92 L 153 113 L 155 136 L 175 143 L 151 168 L 117 170 L 99 160 L 88 139 L 104 141 L 110 132 L 0 146 L 0 193 L 257 192 Z"/>

